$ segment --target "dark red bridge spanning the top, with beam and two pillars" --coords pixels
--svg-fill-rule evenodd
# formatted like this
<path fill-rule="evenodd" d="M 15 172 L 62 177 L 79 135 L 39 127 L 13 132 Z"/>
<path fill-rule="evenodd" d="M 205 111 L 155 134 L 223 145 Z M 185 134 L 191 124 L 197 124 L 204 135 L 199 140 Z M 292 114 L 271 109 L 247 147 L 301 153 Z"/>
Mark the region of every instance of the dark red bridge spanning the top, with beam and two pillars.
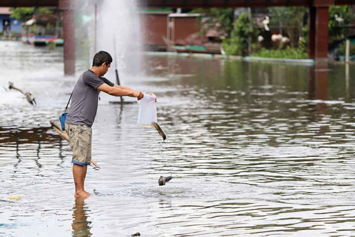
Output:
<path fill-rule="evenodd" d="M 75 73 L 75 0 L 1 0 L 0 7 L 57 7 L 63 13 L 64 73 Z M 355 0 L 140 0 L 145 8 L 309 8 L 309 58 L 323 61 L 328 55 L 329 6 L 351 5 Z"/>

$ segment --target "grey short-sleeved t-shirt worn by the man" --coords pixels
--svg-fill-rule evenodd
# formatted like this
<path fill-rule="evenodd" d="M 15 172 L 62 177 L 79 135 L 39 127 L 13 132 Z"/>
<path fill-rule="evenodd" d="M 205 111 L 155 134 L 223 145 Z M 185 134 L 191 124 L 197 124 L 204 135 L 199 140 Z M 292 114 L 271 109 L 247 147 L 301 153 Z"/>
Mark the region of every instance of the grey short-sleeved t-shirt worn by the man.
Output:
<path fill-rule="evenodd" d="M 91 70 L 80 75 L 74 86 L 72 104 L 70 104 L 65 123 L 92 126 L 100 93 L 97 87 L 104 83 L 109 86 L 115 85 L 104 77 L 97 77 Z"/>

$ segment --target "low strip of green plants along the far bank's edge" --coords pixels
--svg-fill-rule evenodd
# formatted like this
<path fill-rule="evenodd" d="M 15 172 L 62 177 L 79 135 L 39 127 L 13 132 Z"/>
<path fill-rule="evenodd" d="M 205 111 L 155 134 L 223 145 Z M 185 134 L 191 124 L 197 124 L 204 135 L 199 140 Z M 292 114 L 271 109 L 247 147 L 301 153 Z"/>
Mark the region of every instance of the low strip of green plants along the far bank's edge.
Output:
<path fill-rule="evenodd" d="M 291 59 L 306 59 L 308 55 L 302 49 L 291 49 L 287 47 L 284 50 L 267 50 L 262 48 L 257 53 L 253 53 L 252 56 L 266 57 L 266 58 L 291 58 Z"/>

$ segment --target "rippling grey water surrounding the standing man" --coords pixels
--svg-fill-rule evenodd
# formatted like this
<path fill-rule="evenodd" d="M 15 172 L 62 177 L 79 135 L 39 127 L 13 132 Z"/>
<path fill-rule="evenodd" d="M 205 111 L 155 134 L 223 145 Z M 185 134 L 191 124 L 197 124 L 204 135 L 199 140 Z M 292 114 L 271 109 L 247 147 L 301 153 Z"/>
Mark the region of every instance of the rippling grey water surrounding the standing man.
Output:
<path fill-rule="evenodd" d="M 158 96 L 168 140 L 101 93 L 101 170 L 88 167 L 93 195 L 76 201 L 70 147 L 49 121 L 86 67 L 63 77 L 62 49 L 20 42 L 0 55 L 1 236 L 354 235 L 354 66 L 146 55 L 121 82 Z"/>

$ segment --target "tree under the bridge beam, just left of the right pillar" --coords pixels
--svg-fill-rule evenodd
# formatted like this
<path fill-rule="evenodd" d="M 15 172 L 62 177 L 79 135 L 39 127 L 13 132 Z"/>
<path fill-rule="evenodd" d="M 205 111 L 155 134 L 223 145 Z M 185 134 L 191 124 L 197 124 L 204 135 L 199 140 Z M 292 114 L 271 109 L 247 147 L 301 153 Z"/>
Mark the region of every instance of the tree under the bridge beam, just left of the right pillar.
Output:
<path fill-rule="evenodd" d="M 291 40 L 291 46 L 297 47 L 299 29 L 303 26 L 304 15 L 307 9 L 304 7 L 272 7 L 270 25 L 279 25 L 287 33 Z M 295 27 L 296 26 L 296 27 Z"/>

